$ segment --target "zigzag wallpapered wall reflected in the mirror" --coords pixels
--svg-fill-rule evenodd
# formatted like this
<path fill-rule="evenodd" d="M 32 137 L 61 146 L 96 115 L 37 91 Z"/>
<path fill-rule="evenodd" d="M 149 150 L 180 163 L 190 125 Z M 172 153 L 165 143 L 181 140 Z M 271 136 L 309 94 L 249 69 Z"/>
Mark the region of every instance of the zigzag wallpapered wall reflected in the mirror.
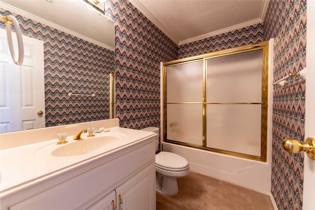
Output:
<path fill-rule="evenodd" d="M 7 15 L 8 11 L 0 10 Z M 44 42 L 46 127 L 109 118 L 114 52 L 12 13 L 22 33 Z M 4 28 L 1 22 L 1 28 Z M 96 97 L 69 97 L 68 92 Z"/>

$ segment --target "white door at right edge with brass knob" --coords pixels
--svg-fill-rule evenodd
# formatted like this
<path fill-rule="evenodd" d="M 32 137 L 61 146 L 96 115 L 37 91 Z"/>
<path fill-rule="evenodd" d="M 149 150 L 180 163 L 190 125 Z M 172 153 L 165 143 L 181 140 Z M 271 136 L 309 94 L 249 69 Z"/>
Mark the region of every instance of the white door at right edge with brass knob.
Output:
<path fill-rule="evenodd" d="M 307 1 L 305 138 L 315 138 L 315 1 Z M 304 156 L 303 210 L 315 210 L 315 160 Z"/>

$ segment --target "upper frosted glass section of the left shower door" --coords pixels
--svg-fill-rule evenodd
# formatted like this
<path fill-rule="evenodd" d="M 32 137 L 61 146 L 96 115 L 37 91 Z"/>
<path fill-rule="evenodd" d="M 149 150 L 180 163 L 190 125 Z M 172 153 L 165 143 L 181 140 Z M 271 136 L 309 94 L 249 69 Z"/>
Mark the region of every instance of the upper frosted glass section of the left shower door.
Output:
<path fill-rule="evenodd" d="M 202 102 L 203 61 L 166 68 L 167 102 Z"/>

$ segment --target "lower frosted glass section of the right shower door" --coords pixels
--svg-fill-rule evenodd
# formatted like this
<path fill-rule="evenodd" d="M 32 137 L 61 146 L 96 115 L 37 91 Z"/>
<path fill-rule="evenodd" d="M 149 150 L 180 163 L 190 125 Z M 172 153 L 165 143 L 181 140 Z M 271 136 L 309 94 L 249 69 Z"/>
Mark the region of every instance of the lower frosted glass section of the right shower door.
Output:
<path fill-rule="evenodd" d="M 207 105 L 206 147 L 260 156 L 261 105 Z"/>

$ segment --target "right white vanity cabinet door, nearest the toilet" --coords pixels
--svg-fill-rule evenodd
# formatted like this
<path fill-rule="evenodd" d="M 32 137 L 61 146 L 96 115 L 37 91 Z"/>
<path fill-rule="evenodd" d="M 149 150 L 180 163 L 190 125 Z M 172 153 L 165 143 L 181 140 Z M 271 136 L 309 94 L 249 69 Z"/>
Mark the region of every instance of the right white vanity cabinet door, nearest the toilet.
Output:
<path fill-rule="evenodd" d="M 118 210 L 156 209 L 156 169 L 151 164 L 115 189 Z"/>

